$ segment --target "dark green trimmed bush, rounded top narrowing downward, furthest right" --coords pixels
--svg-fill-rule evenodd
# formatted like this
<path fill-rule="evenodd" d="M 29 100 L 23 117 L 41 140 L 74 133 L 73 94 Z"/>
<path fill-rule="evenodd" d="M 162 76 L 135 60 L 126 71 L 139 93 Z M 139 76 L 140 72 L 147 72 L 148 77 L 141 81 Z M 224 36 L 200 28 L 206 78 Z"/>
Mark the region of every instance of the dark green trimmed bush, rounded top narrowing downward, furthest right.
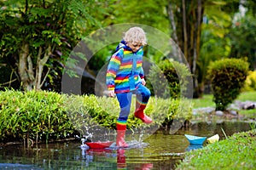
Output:
<path fill-rule="evenodd" d="M 248 63 L 242 59 L 221 59 L 209 65 L 207 78 L 212 83 L 216 111 L 224 111 L 241 93 L 247 71 Z"/>

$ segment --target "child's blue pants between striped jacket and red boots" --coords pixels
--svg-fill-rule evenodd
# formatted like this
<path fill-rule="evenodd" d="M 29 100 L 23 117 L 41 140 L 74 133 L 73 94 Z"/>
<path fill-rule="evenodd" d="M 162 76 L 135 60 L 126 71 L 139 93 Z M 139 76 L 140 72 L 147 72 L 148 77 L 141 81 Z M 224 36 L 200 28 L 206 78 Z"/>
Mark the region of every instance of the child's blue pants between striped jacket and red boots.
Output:
<path fill-rule="evenodd" d="M 150 91 L 148 88 L 143 86 L 142 84 L 139 87 L 131 92 L 116 94 L 117 99 L 119 100 L 120 113 L 119 113 L 119 121 L 127 121 L 128 116 L 131 110 L 131 96 L 132 94 L 136 94 L 137 102 L 141 105 L 147 105 L 148 99 L 150 97 Z"/>

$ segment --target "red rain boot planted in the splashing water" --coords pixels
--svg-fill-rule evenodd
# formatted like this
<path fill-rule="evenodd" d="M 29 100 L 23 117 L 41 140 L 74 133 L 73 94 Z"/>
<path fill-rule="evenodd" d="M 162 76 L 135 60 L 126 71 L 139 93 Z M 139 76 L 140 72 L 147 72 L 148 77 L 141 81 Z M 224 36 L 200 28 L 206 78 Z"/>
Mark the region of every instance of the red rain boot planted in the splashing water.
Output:
<path fill-rule="evenodd" d="M 128 144 L 125 143 L 126 125 L 117 123 L 116 130 L 117 130 L 116 146 L 120 148 L 127 148 Z"/>

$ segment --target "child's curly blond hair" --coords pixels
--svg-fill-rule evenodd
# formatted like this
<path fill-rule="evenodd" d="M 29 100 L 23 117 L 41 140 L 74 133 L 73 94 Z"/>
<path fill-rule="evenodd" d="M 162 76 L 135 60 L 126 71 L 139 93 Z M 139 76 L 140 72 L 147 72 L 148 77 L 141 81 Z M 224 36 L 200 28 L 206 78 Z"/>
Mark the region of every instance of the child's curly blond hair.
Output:
<path fill-rule="evenodd" d="M 123 37 L 125 42 L 129 43 L 137 43 L 143 46 L 147 45 L 147 37 L 146 33 L 140 27 L 131 27 L 128 31 L 125 32 L 125 36 Z"/>

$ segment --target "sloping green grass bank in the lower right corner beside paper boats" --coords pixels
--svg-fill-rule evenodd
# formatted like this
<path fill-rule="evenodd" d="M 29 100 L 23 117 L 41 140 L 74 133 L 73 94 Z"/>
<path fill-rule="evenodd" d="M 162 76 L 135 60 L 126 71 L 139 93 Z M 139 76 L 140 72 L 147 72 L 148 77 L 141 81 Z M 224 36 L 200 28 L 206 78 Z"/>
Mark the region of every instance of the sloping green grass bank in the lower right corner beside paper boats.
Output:
<path fill-rule="evenodd" d="M 176 169 L 251 169 L 256 166 L 256 130 L 187 152 Z M 212 163 L 214 162 L 214 163 Z"/>

